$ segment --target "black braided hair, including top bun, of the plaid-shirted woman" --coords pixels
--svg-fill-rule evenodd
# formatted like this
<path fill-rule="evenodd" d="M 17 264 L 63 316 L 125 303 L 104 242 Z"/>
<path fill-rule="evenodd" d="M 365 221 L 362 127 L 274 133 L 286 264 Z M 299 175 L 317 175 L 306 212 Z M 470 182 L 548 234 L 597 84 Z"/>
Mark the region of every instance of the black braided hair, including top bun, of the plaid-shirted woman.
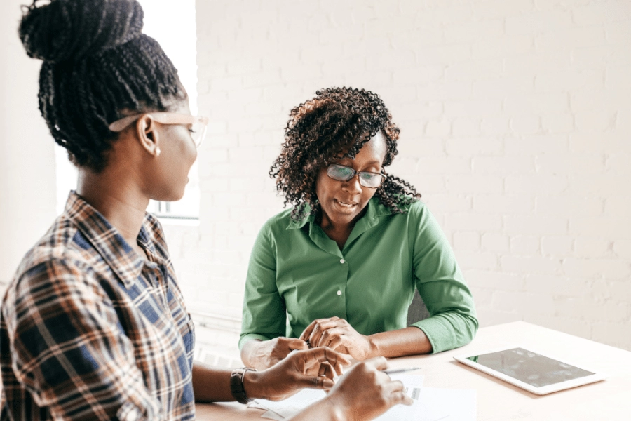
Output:
<path fill-rule="evenodd" d="M 70 160 L 99 172 L 128 114 L 167 111 L 186 99 L 177 69 L 160 44 L 142 34 L 135 0 L 50 0 L 23 6 L 20 39 L 43 60 L 39 110 Z"/>

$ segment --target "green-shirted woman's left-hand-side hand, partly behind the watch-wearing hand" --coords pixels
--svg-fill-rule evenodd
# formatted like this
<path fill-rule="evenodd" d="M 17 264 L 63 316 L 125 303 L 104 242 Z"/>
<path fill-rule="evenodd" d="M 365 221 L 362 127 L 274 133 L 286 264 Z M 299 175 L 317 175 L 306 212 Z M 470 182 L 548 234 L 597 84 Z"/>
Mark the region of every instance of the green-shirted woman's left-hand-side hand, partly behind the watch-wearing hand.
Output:
<path fill-rule="evenodd" d="M 304 340 L 284 336 L 266 341 L 252 340 L 243 347 L 243 351 L 247 354 L 247 359 L 243 358 L 243 362 L 257 370 L 265 370 L 285 359 L 294 349 L 309 349 L 309 347 Z"/>

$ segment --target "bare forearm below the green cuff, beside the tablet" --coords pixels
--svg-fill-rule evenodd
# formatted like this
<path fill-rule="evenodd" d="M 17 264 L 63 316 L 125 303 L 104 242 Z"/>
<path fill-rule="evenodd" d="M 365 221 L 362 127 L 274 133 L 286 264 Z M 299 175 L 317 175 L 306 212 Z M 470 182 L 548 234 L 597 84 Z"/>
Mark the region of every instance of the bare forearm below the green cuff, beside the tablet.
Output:
<path fill-rule="evenodd" d="M 369 335 L 370 354 L 393 358 L 396 356 L 428 354 L 432 352 L 432 345 L 423 330 L 414 326 L 391 330 L 389 332 Z"/>

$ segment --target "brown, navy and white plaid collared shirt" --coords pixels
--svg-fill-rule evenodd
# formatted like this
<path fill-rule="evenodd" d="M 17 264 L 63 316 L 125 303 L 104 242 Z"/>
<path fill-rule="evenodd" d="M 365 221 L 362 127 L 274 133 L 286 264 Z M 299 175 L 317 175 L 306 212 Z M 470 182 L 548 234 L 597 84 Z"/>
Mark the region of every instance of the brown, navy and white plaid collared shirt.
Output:
<path fill-rule="evenodd" d="M 191 420 L 194 327 L 160 223 L 130 248 L 71 192 L 0 317 L 0 420 Z"/>

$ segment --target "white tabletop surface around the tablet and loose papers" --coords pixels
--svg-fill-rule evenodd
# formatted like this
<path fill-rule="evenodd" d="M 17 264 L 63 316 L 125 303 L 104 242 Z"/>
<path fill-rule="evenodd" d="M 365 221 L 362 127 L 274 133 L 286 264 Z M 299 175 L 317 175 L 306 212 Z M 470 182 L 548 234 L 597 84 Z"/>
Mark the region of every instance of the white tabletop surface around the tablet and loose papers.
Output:
<path fill-rule="evenodd" d="M 592 383 L 536 396 L 454 361 L 454 355 L 521 345 L 542 353 L 565 356 L 585 368 L 609 374 Z M 427 387 L 477 390 L 480 421 L 631 420 L 631 352 L 517 321 L 482 328 L 469 345 L 436 355 L 391 359 L 390 366 L 421 366 Z M 197 420 L 262 420 L 262 411 L 238 403 L 198 404 Z"/>

